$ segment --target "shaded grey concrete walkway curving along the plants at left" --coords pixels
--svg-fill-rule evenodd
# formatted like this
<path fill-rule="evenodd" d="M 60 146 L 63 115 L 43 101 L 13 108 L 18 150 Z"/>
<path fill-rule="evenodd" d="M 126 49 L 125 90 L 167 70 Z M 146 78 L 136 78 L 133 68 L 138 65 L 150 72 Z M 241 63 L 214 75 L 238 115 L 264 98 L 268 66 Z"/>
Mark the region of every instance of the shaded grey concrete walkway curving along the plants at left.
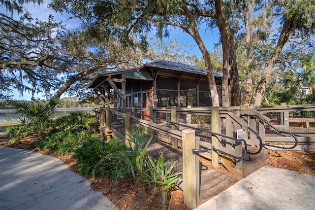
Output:
<path fill-rule="evenodd" d="M 0 146 L 0 210 L 118 210 L 57 158 Z"/>

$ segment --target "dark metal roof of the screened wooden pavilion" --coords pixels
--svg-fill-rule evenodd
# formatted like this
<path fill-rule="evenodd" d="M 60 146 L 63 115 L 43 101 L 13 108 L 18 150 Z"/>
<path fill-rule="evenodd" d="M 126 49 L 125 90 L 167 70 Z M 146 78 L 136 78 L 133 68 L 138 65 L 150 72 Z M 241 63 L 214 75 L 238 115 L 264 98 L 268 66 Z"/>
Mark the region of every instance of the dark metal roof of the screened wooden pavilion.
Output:
<path fill-rule="evenodd" d="M 187 73 L 193 73 L 193 74 L 200 74 L 200 75 L 207 75 L 207 72 L 205 69 L 198 68 L 198 67 L 193 67 L 187 64 L 180 64 L 176 62 L 171 62 L 171 61 L 165 61 L 165 60 L 158 60 L 155 62 L 147 63 L 144 64 L 143 66 L 139 68 L 134 68 L 134 69 L 127 69 L 127 70 L 115 70 L 115 71 L 107 71 L 104 73 L 98 74 L 91 82 L 89 85 L 89 88 L 95 88 L 100 82 L 102 82 L 105 78 L 107 78 L 109 75 L 118 75 L 122 74 L 123 77 L 128 78 L 135 78 L 137 79 L 148 79 L 152 80 L 152 77 L 149 78 L 148 74 L 145 73 L 137 73 L 140 71 L 143 71 L 144 69 L 147 68 L 157 68 L 157 69 L 167 69 L 167 70 L 175 70 L 175 71 L 181 71 L 181 72 L 187 72 Z M 135 73 L 132 73 L 135 72 Z M 222 77 L 221 73 L 214 72 L 214 75 L 216 77 Z"/>

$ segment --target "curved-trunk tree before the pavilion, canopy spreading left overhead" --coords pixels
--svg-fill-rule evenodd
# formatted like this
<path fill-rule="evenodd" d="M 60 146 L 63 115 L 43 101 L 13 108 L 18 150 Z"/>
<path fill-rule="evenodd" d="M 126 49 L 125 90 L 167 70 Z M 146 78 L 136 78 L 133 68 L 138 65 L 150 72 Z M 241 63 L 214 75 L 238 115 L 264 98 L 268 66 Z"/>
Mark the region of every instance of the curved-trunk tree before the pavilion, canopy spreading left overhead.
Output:
<path fill-rule="evenodd" d="M 90 1 L 89 4 L 84 0 L 53 0 L 51 6 L 58 11 L 68 12 L 80 18 L 91 29 L 102 26 L 104 28 L 102 34 L 114 35 L 126 44 L 130 44 L 130 36 L 139 35 L 139 39 L 144 43 L 143 46 L 147 46 L 146 32 L 153 29 L 158 30 L 160 37 L 168 35 L 168 26 L 182 29 L 191 35 L 199 47 L 207 70 L 212 104 L 220 105 L 214 67 L 204 44 L 206 40 L 202 40 L 198 30 L 199 24 L 203 21 L 216 17 L 210 5 L 184 0 L 96 0 Z"/>

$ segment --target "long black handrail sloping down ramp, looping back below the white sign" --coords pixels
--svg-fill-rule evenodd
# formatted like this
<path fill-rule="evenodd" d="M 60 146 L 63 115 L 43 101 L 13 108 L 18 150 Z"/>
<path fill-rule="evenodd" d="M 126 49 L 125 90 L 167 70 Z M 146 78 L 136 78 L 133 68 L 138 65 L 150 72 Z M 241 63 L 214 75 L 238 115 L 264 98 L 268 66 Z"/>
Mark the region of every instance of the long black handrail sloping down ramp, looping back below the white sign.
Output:
<path fill-rule="evenodd" d="M 131 113 L 139 114 L 139 113 L 135 113 L 135 112 L 131 112 Z M 165 122 L 168 122 L 168 123 L 170 123 L 170 124 L 179 125 L 179 126 L 191 128 L 191 129 L 194 129 L 194 130 L 206 132 L 206 133 L 209 133 L 209 134 L 214 135 L 214 136 L 220 136 L 220 137 L 227 138 L 227 139 L 231 139 L 231 140 L 235 140 L 235 141 L 243 141 L 243 142 L 244 142 L 244 152 L 243 152 L 243 155 L 242 155 L 241 157 L 237 157 L 237 156 L 232 155 L 232 154 L 230 154 L 230 153 L 224 152 L 224 151 L 222 151 L 222 150 L 220 150 L 220 149 L 215 148 L 214 146 L 212 147 L 212 150 L 217 151 L 217 152 L 220 152 L 220 153 L 222 153 L 222 154 L 224 154 L 224 155 L 233 157 L 233 158 L 235 158 L 235 159 L 242 160 L 242 159 L 245 158 L 245 155 L 246 155 L 247 153 L 249 153 L 249 151 L 247 151 L 247 142 L 246 142 L 246 140 L 243 140 L 243 139 L 236 139 L 236 138 L 234 138 L 234 137 L 225 136 L 225 135 L 223 135 L 223 134 L 219 134 L 219 133 L 215 133 L 215 132 L 212 132 L 212 131 L 203 130 L 203 129 L 200 129 L 200 128 L 191 127 L 191 126 L 189 126 L 189 125 L 185 125 L 185 124 L 181 124 L 181 123 L 176 123 L 176 122 L 172 122 L 172 121 L 169 121 L 169 120 L 160 119 L 160 118 L 153 117 L 153 116 L 146 115 L 146 114 L 140 114 L 140 115 L 146 116 L 146 117 L 149 117 L 149 118 L 152 118 L 152 119 L 158 119 L 158 120 L 161 120 L 161 121 L 165 121 Z M 261 141 L 260 141 L 260 142 L 261 142 Z M 201 147 L 201 146 L 200 146 L 200 147 Z M 201 147 L 201 148 L 202 148 L 202 147 Z M 260 151 L 261 151 L 261 147 L 260 147 Z M 260 151 L 259 151 L 259 152 L 260 152 Z M 249 153 L 249 154 L 251 154 L 251 153 Z"/>

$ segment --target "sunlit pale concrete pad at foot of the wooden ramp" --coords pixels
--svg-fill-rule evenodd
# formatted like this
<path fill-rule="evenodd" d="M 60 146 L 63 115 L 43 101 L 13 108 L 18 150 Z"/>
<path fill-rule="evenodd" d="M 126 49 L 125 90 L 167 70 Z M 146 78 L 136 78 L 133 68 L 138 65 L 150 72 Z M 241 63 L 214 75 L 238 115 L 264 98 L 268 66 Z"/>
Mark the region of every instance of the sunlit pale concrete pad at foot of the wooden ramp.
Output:
<path fill-rule="evenodd" d="M 315 176 L 265 166 L 194 210 L 314 210 Z"/>

